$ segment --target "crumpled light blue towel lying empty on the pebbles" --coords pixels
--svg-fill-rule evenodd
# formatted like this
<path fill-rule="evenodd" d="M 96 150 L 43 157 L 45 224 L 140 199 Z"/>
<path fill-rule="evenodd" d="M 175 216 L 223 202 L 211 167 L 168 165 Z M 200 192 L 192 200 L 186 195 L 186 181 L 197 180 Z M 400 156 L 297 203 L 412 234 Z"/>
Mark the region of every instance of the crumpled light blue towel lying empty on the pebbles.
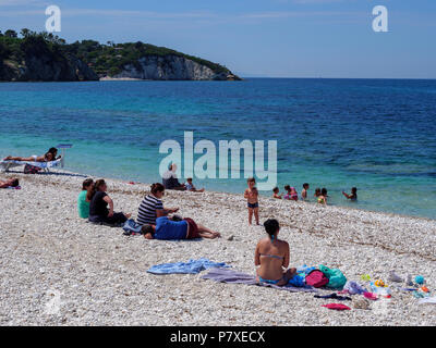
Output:
<path fill-rule="evenodd" d="M 205 258 L 202 258 L 198 260 L 190 260 L 187 262 L 157 264 L 147 270 L 147 272 L 153 274 L 196 274 L 210 268 L 230 268 L 230 265 L 227 265 L 225 262 L 213 262 Z"/>

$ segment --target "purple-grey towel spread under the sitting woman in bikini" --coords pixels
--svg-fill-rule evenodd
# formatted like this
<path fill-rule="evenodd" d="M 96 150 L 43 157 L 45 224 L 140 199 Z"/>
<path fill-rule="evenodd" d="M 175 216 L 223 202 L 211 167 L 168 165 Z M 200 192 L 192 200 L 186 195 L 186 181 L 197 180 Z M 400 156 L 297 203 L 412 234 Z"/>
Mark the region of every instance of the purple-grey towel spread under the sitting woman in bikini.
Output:
<path fill-rule="evenodd" d="M 203 279 L 210 279 L 214 282 L 229 283 L 229 284 L 245 284 L 245 285 L 257 285 L 268 286 L 279 290 L 286 290 L 291 293 L 316 293 L 317 290 L 311 286 L 296 287 L 292 285 L 277 286 L 269 283 L 259 283 L 256 277 L 251 274 L 242 273 L 229 269 L 213 269 L 207 274 L 201 276 Z"/>

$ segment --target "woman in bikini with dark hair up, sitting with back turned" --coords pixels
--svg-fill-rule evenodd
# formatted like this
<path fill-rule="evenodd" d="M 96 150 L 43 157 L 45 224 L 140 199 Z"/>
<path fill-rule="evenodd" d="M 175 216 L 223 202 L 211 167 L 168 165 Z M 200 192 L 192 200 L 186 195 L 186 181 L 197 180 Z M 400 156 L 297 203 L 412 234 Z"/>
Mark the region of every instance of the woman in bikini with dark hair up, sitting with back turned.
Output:
<path fill-rule="evenodd" d="M 289 244 L 278 239 L 279 222 L 268 219 L 264 223 L 268 237 L 257 243 L 254 252 L 254 264 L 257 268 L 258 282 L 282 286 L 288 284 L 295 273 L 295 269 L 289 269 Z M 286 270 L 286 271 L 284 271 Z"/>

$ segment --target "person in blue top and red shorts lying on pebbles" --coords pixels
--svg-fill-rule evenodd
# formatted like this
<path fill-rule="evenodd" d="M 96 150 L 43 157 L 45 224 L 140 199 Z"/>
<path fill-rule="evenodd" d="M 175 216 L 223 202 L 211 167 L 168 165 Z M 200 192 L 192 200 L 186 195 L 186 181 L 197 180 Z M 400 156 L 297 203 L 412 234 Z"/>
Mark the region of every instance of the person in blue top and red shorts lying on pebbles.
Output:
<path fill-rule="evenodd" d="M 211 231 L 195 223 L 190 217 L 161 216 L 156 219 L 156 225 L 144 225 L 142 233 L 146 239 L 195 239 L 195 238 L 219 238 L 218 232 Z"/>

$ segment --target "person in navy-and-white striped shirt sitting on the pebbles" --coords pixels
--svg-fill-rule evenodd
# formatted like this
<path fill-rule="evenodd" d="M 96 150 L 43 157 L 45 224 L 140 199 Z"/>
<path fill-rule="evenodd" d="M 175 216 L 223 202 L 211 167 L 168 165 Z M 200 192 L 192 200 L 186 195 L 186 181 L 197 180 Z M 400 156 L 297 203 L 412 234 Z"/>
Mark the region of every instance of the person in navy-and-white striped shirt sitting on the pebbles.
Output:
<path fill-rule="evenodd" d="M 165 187 L 162 184 L 156 183 L 152 185 L 152 194 L 145 196 L 137 211 L 136 222 L 140 225 L 156 225 L 156 219 L 175 213 L 179 209 L 165 209 L 161 198 L 164 197 Z"/>

